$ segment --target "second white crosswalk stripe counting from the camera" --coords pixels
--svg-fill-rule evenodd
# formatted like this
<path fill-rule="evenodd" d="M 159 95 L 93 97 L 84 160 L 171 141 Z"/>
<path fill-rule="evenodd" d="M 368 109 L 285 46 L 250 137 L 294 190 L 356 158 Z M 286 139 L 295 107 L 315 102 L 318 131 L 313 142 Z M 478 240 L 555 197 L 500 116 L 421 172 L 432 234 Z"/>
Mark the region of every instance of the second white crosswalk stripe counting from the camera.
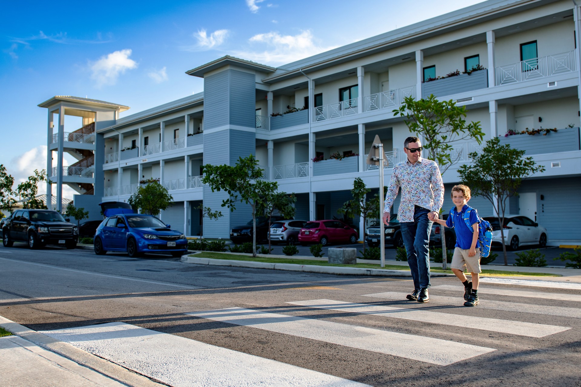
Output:
<path fill-rule="evenodd" d="M 297 337 L 330 342 L 352 348 L 406 357 L 447 366 L 483 353 L 496 351 L 449 340 L 358 327 L 327 320 L 265 313 L 244 308 L 185 313 L 214 321 L 260 328 Z"/>

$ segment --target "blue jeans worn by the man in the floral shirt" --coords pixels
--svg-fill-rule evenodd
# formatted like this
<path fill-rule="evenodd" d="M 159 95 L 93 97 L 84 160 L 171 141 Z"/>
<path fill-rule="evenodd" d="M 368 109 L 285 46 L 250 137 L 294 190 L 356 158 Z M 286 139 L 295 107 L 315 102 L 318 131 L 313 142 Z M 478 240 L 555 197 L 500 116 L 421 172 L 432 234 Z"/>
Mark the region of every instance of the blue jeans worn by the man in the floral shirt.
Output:
<path fill-rule="evenodd" d="M 401 222 L 401 238 L 406 245 L 407 264 L 410 265 L 414 289 L 430 287 L 429 242 L 432 221 L 428 219 L 429 210 L 415 206 L 414 221 Z"/>

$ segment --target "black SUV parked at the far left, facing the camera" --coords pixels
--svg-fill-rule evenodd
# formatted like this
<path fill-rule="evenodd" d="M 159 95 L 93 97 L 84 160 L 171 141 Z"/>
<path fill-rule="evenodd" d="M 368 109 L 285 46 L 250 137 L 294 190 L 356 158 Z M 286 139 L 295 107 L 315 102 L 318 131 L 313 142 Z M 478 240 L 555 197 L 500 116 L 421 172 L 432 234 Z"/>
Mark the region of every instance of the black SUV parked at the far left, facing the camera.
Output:
<path fill-rule="evenodd" d="M 67 249 L 74 249 L 78 228 L 57 211 L 16 210 L 2 226 L 4 247 L 12 247 L 15 241 L 28 242 L 31 249 L 46 244 L 64 244 Z"/>

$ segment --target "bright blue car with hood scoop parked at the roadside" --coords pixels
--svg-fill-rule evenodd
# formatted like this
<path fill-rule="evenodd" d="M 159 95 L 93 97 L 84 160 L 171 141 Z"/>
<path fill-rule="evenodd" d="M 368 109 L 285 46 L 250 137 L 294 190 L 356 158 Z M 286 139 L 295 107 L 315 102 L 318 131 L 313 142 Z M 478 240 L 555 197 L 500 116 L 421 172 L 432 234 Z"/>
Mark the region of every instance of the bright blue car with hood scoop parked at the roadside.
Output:
<path fill-rule="evenodd" d="M 109 216 L 95 232 L 95 254 L 127 252 L 130 257 L 144 253 L 170 253 L 181 257 L 188 251 L 188 240 L 170 225 L 152 215 L 118 213 Z"/>

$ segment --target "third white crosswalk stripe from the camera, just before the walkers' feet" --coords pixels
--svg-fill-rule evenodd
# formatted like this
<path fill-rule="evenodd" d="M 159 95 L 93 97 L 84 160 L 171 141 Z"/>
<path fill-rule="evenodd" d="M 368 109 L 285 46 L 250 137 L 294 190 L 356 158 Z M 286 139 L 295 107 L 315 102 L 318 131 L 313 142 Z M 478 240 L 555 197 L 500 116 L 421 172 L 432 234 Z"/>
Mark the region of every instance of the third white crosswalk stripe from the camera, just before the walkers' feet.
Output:
<path fill-rule="evenodd" d="M 328 309 L 331 311 L 364 313 L 367 315 L 392 317 L 394 319 L 406 319 L 432 324 L 444 324 L 454 327 L 474 328 L 487 331 L 510 333 L 515 335 L 544 337 L 554 333 L 566 331 L 568 327 L 553 325 L 525 323 L 520 321 L 490 319 L 487 317 L 474 317 L 454 315 L 453 313 L 429 312 L 422 309 L 394 308 L 393 306 L 377 306 L 367 304 L 355 304 L 335 300 L 309 300 L 287 302 L 287 304 L 310 306 L 311 308 Z"/>

